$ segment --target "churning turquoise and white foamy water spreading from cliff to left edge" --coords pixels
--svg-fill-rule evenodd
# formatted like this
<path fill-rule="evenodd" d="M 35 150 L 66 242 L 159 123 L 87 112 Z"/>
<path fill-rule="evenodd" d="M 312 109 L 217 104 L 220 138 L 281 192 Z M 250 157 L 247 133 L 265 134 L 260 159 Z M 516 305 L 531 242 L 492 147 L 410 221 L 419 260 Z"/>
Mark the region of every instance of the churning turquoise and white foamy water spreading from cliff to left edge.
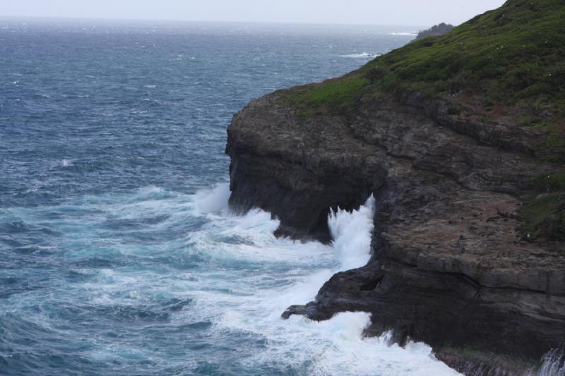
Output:
<path fill-rule="evenodd" d="M 227 183 L 195 195 L 148 187 L 41 212 L 8 210 L 4 216 L 23 218 L 30 226 L 51 222 L 73 234 L 57 246 L 64 250 L 66 262 L 81 265 L 86 258 L 92 262 L 92 257 L 102 260 L 108 254 L 119 261 L 95 271 L 79 267 L 67 278 L 81 283 L 61 285 L 48 296 L 18 296 L 11 312 L 4 313 L 3 339 L 41 327 L 53 346 L 67 339 L 75 351 L 84 351 L 85 359 L 123 364 L 124 372 L 135 361 L 153 372 L 456 375 L 425 344 L 400 348 L 389 344 L 388 336 L 363 338 L 367 313 L 340 313 L 326 322 L 280 317 L 288 305 L 311 301 L 333 273 L 367 262 L 372 198 L 357 211 L 332 213 L 328 223 L 333 243 L 323 245 L 275 238 L 276 219 L 261 210 L 230 214 L 228 195 Z M 174 233 L 186 223 L 198 223 L 199 229 L 153 246 L 125 241 L 128 229 L 120 239 L 105 242 L 101 239 L 106 238 L 107 218 L 113 226 L 132 220 L 148 224 L 147 237 Z M 76 296 L 83 298 L 58 315 L 83 322 L 82 332 L 54 324 L 44 308 L 64 305 Z M 18 307 L 29 305 L 36 305 L 37 312 L 26 317 L 24 325 L 17 324 Z M 89 320 L 90 310 L 102 315 L 100 322 Z M 122 325 L 106 327 L 108 319 Z M 132 341 L 128 330 L 145 334 L 141 341 Z M 105 338 L 99 333 L 105 331 L 114 334 Z M 161 332 L 159 346 L 178 353 L 170 356 L 146 342 L 151 332 Z M 214 356 L 216 351 L 221 356 Z M 11 362 L 5 353 L 2 359 Z"/>

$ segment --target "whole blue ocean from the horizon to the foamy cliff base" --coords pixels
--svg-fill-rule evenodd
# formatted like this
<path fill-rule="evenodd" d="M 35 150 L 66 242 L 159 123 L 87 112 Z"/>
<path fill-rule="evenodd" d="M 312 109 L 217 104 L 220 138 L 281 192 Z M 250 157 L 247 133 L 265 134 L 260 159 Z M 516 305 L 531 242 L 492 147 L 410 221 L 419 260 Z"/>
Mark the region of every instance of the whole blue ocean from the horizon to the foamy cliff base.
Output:
<path fill-rule="evenodd" d="M 235 111 L 415 29 L 0 20 L 0 374 L 455 374 L 366 313 L 280 319 L 367 262 L 371 200 L 333 245 L 227 210 Z"/>

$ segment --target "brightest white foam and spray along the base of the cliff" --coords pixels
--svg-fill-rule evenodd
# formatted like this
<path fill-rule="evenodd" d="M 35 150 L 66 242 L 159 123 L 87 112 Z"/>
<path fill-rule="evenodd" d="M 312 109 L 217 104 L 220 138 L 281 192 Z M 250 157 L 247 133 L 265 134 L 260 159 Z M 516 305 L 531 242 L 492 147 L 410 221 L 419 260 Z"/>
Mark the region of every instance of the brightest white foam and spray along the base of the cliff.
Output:
<path fill-rule="evenodd" d="M 425 344 L 411 342 L 405 348 L 389 346 L 390 334 L 364 338 L 362 333 L 370 324 L 369 313 L 340 313 L 323 322 L 299 316 L 286 321 L 280 318 L 288 305 L 312 301 L 333 273 L 367 263 L 374 217 L 372 196 L 359 210 L 338 210 L 330 214 L 331 247 L 317 242 L 302 244 L 275 239 L 270 232 L 275 229 L 273 224 L 257 227 L 256 220 L 263 214 L 267 214 L 263 217 L 266 223 L 268 213 L 256 211 L 240 217 L 239 226 L 222 224 L 230 226 L 222 230 L 223 234 L 231 231 L 245 234 L 251 242 L 222 245 L 223 250 L 218 253 L 238 260 L 268 262 L 269 269 L 240 276 L 232 292 L 239 291 L 244 296 L 233 298 L 216 294 L 210 297 L 206 294 L 199 298 L 201 303 L 225 306 L 216 321 L 218 332 L 251 332 L 267 340 L 267 348 L 251 356 L 246 363 L 254 366 L 283 363 L 287 369 L 311 375 L 458 375 L 437 360 L 432 348 Z M 245 229 L 258 231 L 246 233 Z M 213 244 L 201 243 L 201 246 L 213 248 Z M 276 265 L 288 264 L 295 267 L 278 271 Z M 279 282 L 275 286 L 259 287 L 266 281 Z M 225 287 L 225 282 L 222 286 Z M 308 370 L 302 370 L 308 363 L 311 363 Z"/>

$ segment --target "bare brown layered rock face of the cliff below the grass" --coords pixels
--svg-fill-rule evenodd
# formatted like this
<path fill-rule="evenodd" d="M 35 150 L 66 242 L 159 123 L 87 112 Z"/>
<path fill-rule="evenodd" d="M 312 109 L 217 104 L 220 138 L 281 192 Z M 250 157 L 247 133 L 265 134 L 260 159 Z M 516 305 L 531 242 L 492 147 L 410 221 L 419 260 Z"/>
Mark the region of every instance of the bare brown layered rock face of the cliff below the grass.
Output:
<path fill-rule="evenodd" d="M 272 212 L 281 235 L 328 241 L 330 207 L 376 198 L 369 264 L 287 314 L 366 311 L 369 334 L 426 341 L 463 372 L 527 370 L 565 341 L 565 243 L 524 231 L 525 202 L 540 200 L 531 182 L 562 166 L 538 147 L 547 133 L 516 126 L 525 107 L 496 104 L 485 118 L 473 90 L 368 90 L 369 68 L 256 99 L 228 128 L 230 205 Z M 343 99 L 356 75 L 367 87 Z M 312 111 L 300 97 L 334 84 L 340 102 Z"/>

